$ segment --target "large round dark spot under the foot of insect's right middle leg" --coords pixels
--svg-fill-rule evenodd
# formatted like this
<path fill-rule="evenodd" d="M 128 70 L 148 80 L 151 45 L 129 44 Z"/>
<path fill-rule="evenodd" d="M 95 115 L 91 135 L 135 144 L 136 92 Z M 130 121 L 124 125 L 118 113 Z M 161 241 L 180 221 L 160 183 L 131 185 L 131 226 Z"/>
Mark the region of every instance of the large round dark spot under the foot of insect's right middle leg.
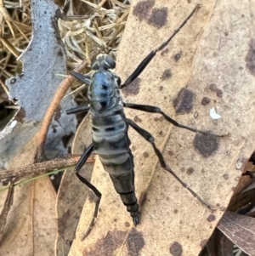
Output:
<path fill-rule="evenodd" d="M 204 157 L 209 157 L 218 150 L 218 142 L 213 135 L 195 134 L 193 145 Z"/>

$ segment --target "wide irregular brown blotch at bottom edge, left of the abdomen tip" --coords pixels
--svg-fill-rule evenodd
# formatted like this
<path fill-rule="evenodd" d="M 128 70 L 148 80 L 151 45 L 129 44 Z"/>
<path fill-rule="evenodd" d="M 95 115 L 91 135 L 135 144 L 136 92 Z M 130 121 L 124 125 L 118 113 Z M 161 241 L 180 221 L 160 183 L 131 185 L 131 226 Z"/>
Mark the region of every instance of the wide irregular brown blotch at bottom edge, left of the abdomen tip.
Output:
<path fill-rule="evenodd" d="M 124 242 L 126 235 L 127 231 L 117 230 L 116 228 L 113 231 L 108 231 L 106 236 L 99 238 L 91 247 L 85 247 L 82 255 L 112 256 L 116 249 Z"/>

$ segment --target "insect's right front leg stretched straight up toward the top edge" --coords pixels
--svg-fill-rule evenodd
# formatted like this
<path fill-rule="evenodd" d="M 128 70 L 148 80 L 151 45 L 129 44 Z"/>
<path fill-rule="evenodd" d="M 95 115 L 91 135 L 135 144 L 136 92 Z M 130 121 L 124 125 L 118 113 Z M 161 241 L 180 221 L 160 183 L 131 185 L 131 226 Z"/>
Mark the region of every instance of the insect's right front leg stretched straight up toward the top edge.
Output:
<path fill-rule="evenodd" d="M 130 75 L 130 77 L 127 78 L 127 80 L 120 85 L 120 88 L 124 88 L 126 87 L 128 84 L 130 84 L 131 82 L 133 82 L 133 80 L 137 77 L 139 77 L 139 75 L 141 74 L 142 71 L 144 71 L 144 68 L 150 63 L 150 60 L 152 60 L 154 58 L 154 56 L 156 55 L 157 52 L 161 51 L 161 49 L 165 48 L 167 46 L 167 44 L 172 40 L 172 38 L 178 33 L 178 31 L 180 31 L 182 29 L 182 27 L 187 23 L 188 20 L 190 20 L 190 18 L 193 16 L 193 14 L 195 14 L 195 11 L 197 9 L 200 9 L 201 5 L 197 4 L 195 6 L 195 9 L 193 9 L 193 11 L 191 12 L 191 14 L 186 18 L 186 20 L 184 20 L 184 22 L 178 27 L 177 30 L 175 30 L 172 34 L 171 37 L 169 37 L 167 39 L 167 41 L 165 41 L 164 43 L 162 43 L 158 48 L 156 48 L 155 50 L 151 51 L 149 55 L 147 55 L 144 60 L 142 60 L 142 62 L 139 64 L 139 66 L 135 69 L 135 71 L 133 71 L 133 73 Z"/>

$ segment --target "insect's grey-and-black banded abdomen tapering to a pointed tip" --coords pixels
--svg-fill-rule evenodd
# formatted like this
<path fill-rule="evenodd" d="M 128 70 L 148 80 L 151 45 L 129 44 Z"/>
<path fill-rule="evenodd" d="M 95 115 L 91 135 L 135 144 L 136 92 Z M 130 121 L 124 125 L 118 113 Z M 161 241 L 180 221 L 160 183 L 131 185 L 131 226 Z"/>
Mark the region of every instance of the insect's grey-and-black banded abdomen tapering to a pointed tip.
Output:
<path fill-rule="evenodd" d="M 133 155 L 129 149 L 127 122 L 122 110 L 111 116 L 93 116 L 94 152 L 99 155 L 105 171 L 134 219 L 139 219 L 139 205 L 134 194 Z M 138 221 L 138 220 L 137 220 Z"/>

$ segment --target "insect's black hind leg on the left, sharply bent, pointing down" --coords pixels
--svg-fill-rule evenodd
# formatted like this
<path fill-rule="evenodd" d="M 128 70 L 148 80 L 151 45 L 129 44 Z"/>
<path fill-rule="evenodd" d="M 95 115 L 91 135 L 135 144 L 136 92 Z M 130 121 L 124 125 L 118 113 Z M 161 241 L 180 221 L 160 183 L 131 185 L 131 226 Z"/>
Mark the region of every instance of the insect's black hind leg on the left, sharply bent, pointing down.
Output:
<path fill-rule="evenodd" d="M 90 233 L 90 231 L 92 230 L 92 227 L 94 226 L 94 220 L 97 218 L 98 216 L 98 212 L 99 212 L 99 203 L 101 200 L 101 196 L 102 194 L 99 192 L 99 190 L 92 185 L 87 179 L 83 178 L 82 175 L 79 174 L 79 171 L 81 170 L 83 164 L 87 161 L 88 156 L 91 155 L 91 153 L 94 150 L 94 145 L 93 143 L 91 145 L 88 146 L 88 148 L 83 152 L 81 158 L 79 159 L 79 161 L 77 162 L 77 165 L 75 167 L 75 172 L 77 174 L 78 179 L 80 179 L 82 181 L 83 184 L 87 185 L 89 189 L 91 189 L 94 194 L 98 197 L 97 201 L 95 202 L 95 207 L 94 207 L 94 215 L 93 215 L 93 219 L 91 220 L 90 224 L 88 225 L 88 230 L 84 233 L 84 235 L 82 236 L 82 240 L 85 239 L 86 236 L 88 236 L 88 234 Z"/>

